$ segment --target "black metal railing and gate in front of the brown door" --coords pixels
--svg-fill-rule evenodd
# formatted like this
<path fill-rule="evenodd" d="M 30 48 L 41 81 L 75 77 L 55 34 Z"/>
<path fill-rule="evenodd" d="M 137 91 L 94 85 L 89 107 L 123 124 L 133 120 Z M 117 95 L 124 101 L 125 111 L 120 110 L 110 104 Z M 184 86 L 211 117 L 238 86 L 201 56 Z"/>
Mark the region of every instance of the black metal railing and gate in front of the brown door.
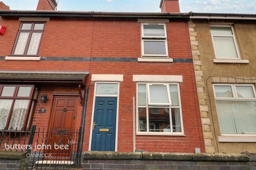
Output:
<path fill-rule="evenodd" d="M 0 131 L 0 150 L 26 152 L 27 169 L 79 167 L 81 130 L 31 127 L 30 131 Z"/>

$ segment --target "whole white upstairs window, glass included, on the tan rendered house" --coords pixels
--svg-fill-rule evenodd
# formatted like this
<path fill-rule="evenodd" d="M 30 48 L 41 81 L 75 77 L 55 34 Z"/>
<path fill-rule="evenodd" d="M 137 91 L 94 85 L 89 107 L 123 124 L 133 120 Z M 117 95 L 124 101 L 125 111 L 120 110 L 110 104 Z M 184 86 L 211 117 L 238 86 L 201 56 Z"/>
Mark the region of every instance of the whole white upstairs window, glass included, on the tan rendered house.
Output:
<path fill-rule="evenodd" d="M 210 30 L 217 59 L 241 59 L 231 25 L 211 25 Z"/>

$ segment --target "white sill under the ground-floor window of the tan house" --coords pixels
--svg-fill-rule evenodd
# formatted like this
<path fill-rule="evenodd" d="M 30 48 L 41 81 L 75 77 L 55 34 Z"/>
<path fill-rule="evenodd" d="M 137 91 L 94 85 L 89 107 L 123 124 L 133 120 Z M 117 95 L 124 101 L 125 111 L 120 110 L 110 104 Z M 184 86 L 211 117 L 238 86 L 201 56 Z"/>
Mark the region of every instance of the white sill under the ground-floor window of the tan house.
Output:
<path fill-rule="evenodd" d="M 239 135 L 239 136 L 221 136 L 218 137 L 219 142 L 256 142 L 255 136 Z"/>

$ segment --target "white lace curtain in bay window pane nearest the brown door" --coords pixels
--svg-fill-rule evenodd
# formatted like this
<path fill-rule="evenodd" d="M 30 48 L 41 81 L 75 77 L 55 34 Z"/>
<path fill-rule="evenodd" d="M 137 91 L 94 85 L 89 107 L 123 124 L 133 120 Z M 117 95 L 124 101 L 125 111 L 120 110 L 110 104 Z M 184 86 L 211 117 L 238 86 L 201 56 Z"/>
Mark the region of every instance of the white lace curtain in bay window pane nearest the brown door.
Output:
<path fill-rule="evenodd" d="M 15 100 L 9 129 L 21 130 L 28 111 L 29 100 Z"/>

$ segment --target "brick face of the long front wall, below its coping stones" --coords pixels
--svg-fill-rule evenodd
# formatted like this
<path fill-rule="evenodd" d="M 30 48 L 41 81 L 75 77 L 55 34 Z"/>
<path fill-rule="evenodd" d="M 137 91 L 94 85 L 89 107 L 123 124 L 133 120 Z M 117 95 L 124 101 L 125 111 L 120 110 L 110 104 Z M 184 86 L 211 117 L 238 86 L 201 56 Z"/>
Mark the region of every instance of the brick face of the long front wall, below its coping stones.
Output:
<path fill-rule="evenodd" d="M 170 170 L 253 170 L 249 162 L 196 162 L 172 160 L 103 160 L 85 159 L 83 170 L 89 169 L 170 169 Z"/>

